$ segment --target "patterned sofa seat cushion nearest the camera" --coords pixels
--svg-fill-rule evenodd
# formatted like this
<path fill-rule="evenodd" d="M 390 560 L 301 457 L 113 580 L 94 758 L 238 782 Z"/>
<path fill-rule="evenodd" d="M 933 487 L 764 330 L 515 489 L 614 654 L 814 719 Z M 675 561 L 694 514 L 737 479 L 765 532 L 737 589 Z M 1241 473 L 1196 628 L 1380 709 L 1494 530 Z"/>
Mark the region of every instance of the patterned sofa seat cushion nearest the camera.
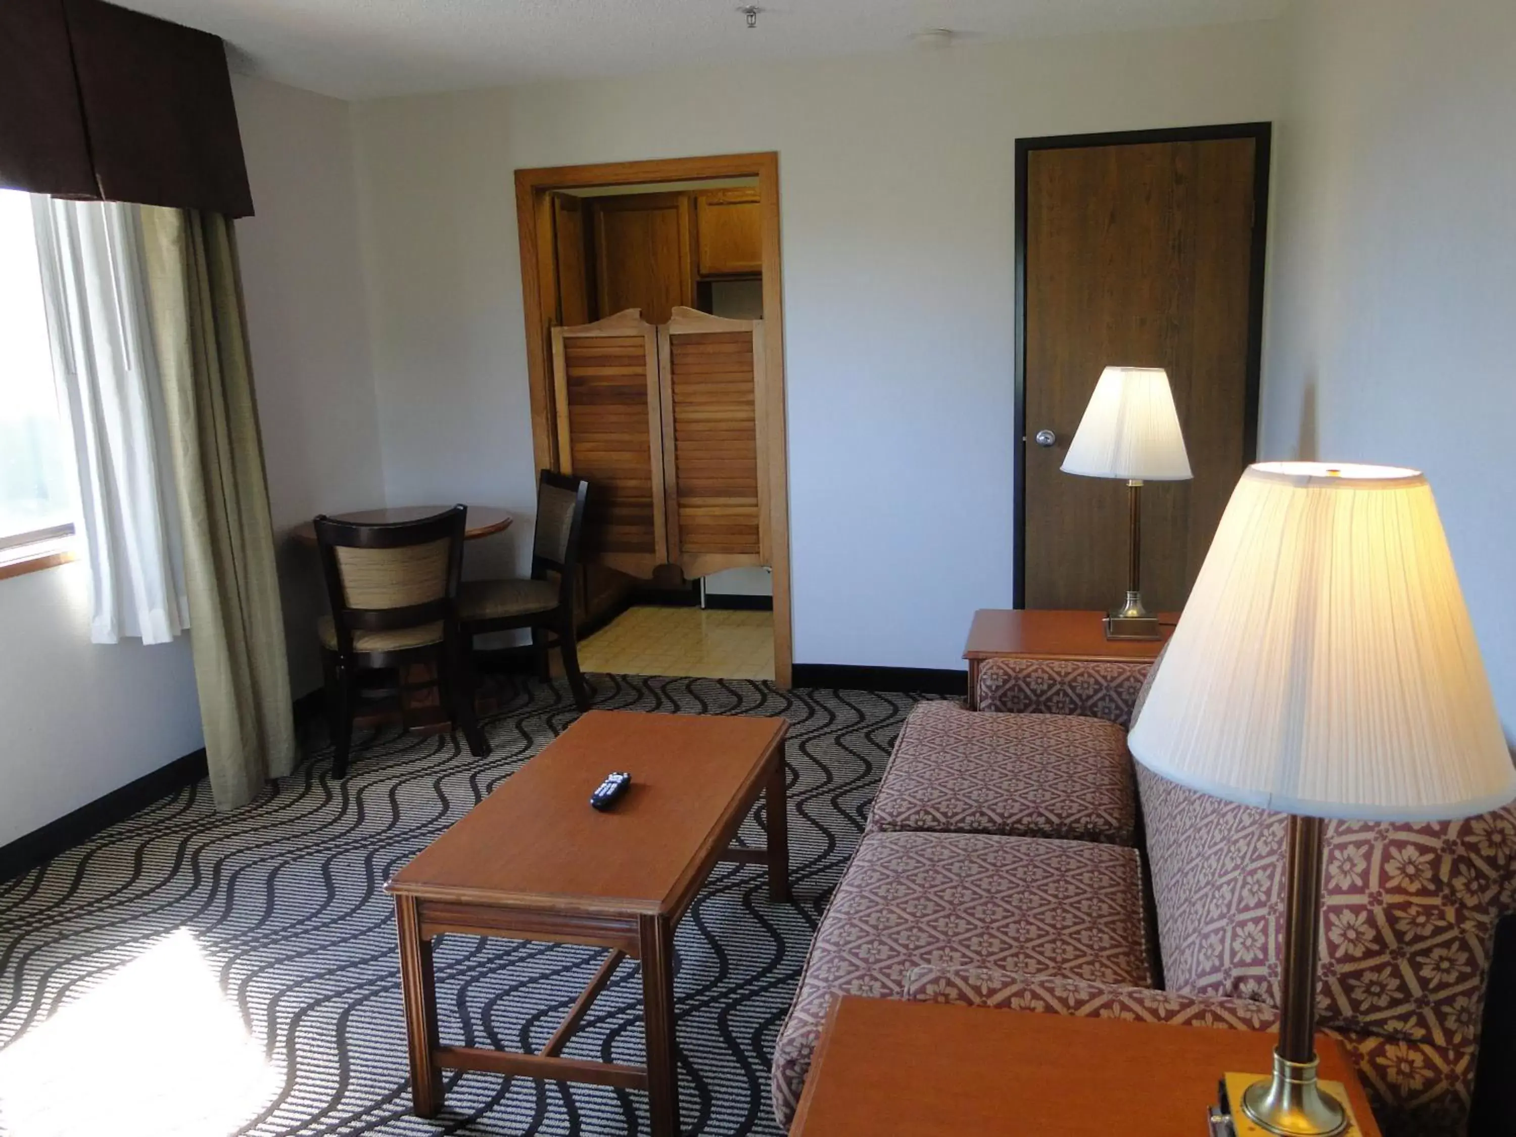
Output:
<path fill-rule="evenodd" d="M 922 964 L 1151 987 L 1137 852 L 987 834 L 866 834 L 775 1045 L 782 1125 L 800 1099 L 831 996 L 901 998 Z"/>

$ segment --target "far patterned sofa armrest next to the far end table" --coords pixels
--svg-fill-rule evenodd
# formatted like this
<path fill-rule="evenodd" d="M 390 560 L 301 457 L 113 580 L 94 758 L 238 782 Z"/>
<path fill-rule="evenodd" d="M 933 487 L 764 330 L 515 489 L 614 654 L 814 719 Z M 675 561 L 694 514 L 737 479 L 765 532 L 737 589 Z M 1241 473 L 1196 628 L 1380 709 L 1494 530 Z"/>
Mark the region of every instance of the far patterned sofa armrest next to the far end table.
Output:
<path fill-rule="evenodd" d="M 1149 667 L 1146 659 L 984 659 L 975 705 L 1011 714 L 1082 714 L 1126 728 Z"/>

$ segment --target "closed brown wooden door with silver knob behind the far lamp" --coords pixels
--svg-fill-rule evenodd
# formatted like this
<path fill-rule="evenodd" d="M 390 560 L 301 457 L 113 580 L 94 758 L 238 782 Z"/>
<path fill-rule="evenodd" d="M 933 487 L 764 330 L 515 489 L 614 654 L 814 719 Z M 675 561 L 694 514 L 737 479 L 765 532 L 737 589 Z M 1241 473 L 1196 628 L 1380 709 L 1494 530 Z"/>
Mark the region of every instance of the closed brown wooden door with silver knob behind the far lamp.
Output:
<path fill-rule="evenodd" d="M 1025 606 L 1107 609 L 1125 594 L 1125 484 L 1058 468 L 1101 370 L 1117 364 L 1169 371 L 1195 471 L 1143 490 L 1143 597 L 1179 609 L 1252 461 L 1257 139 L 1025 158 Z M 1055 443 L 1040 446 L 1040 431 Z"/>

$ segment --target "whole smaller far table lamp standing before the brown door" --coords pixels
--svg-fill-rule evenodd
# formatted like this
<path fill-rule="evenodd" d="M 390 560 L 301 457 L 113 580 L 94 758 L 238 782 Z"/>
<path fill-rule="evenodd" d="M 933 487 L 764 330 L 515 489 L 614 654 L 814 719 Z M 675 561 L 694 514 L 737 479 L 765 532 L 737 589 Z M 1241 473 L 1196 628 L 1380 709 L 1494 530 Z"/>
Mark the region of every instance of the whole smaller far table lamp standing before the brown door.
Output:
<path fill-rule="evenodd" d="M 1105 617 L 1105 638 L 1157 640 L 1158 617 L 1142 602 L 1142 485 L 1193 476 L 1169 373 L 1161 367 L 1107 367 L 1061 468 L 1126 479 L 1126 602 Z"/>

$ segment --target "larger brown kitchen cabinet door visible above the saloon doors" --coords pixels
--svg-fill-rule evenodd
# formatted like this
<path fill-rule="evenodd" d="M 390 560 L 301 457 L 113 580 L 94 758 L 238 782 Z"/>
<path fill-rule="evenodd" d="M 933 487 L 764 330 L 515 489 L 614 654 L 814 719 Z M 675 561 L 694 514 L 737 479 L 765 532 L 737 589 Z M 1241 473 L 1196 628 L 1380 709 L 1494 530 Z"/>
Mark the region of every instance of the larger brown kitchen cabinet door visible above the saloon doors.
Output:
<path fill-rule="evenodd" d="M 690 194 L 628 194 L 593 199 L 599 314 L 641 309 L 667 323 L 694 303 L 694 220 Z"/>

